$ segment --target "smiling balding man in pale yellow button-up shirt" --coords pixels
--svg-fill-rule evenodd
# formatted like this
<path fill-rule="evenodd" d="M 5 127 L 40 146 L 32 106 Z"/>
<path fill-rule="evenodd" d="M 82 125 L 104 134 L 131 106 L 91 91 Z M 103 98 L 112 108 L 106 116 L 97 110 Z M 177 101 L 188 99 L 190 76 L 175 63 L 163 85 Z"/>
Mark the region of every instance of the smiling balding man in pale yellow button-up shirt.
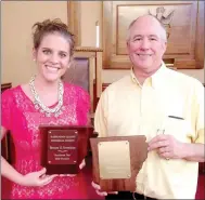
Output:
<path fill-rule="evenodd" d="M 128 29 L 130 75 L 111 84 L 94 117 L 100 137 L 145 135 L 149 152 L 136 178 L 136 192 L 101 191 L 105 199 L 194 199 L 204 158 L 204 88 L 166 68 L 166 30 L 151 15 Z"/>

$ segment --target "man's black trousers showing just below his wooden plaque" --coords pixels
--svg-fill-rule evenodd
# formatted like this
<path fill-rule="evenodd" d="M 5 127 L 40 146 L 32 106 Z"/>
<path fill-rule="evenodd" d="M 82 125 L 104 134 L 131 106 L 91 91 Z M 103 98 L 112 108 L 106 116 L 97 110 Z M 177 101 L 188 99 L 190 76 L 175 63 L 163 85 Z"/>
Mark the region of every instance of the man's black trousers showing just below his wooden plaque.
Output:
<path fill-rule="evenodd" d="M 134 196 L 134 197 L 133 197 Z M 105 200 L 110 200 L 110 199 L 117 199 L 117 200 L 133 200 L 133 199 L 150 199 L 150 200 L 155 200 L 153 198 L 150 197 L 144 197 L 143 195 L 139 195 L 136 194 L 134 195 L 132 192 L 129 191 L 119 191 L 118 195 L 107 195 L 105 197 Z"/>

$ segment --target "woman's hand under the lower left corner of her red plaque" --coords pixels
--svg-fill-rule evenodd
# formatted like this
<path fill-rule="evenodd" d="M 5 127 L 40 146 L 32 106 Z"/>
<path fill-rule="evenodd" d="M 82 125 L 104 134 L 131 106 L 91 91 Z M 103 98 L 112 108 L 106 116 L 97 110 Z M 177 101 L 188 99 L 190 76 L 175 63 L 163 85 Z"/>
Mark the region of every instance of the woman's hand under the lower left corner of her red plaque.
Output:
<path fill-rule="evenodd" d="M 43 168 L 38 172 L 31 172 L 24 175 L 18 183 L 22 186 L 44 186 L 53 181 L 57 174 L 54 175 L 46 175 L 47 170 Z"/>

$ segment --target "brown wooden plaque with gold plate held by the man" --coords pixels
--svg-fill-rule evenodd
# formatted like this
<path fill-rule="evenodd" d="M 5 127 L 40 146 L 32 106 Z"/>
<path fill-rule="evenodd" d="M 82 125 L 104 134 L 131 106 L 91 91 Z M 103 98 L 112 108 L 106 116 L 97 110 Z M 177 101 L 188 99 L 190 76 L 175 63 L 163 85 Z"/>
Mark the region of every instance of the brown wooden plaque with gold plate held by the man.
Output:
<path fill-rule="evenodd" d="M 93 182 L 99 184 L 103 191 L 136 191 L 136 177 L 148 158 L 145 139 L 144 135 L 90 138 Z M 106 148 L 103 150 L 101 145 Z M 112 162 L 120 163 L 120 165 L 117 166 Z"/>

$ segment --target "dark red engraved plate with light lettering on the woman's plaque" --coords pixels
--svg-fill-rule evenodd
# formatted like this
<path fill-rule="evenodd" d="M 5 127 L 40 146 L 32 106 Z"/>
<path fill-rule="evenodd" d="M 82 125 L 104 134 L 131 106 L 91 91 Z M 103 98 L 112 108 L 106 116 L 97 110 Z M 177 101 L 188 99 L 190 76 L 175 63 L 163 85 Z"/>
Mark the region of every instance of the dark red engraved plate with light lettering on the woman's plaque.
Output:
<path fill-rule="evenodd" d="M 48 163 L 76 164 L 78 132 L 69 130 L 51 130 L 48 133 Z"/>

